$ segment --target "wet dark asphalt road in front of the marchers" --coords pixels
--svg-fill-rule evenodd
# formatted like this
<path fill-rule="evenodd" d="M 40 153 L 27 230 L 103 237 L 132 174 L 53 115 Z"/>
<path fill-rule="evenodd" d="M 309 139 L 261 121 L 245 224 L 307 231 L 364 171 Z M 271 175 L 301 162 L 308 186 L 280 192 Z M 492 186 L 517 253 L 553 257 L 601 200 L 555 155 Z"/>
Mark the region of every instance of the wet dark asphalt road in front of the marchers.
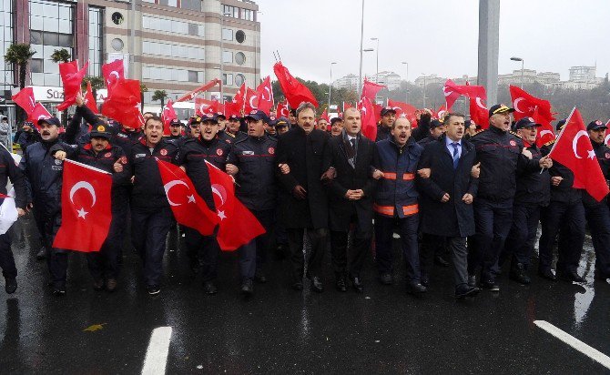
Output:
<path fill-rule="evenodd" d="M 21 225 L 21 224 L 24 225 Z M 524 287 L 500 279 L 501 292 L 453 299 L 452 270 L 435 267 L 421 299 L 404 292 L 402 267 L 391 287 L 365 292 L 288 288 L 286 260 L 269 261 L 269 282 L 239 295 L 235 254 L 220 258 L 219 294 L 205 296 L 176 237 L 168 238 L 165 285 L 149 297 L 139 259 L 124 254 L 117 292 L 96 292 L 80 254 L 70 257 L 67 295 L 46 289 L 46 264 L 29 220 L 15 225 L 19 289 L 0 289 L 0 373 L 133 374 L 142 369 L 152 329 L 173 328 L 167 373 L 603 373 L 605 367 L 534 326 L 543 319 L 610 354 L 610 285 L 593 281 L 587 238 L 581 273 L 588 282 Z M 402 265 L 402 263 L 401 263 Z M 101 329 L 85 330 L 100 325 Z M 97 327 L 100 328 L 100 327 Z"/>

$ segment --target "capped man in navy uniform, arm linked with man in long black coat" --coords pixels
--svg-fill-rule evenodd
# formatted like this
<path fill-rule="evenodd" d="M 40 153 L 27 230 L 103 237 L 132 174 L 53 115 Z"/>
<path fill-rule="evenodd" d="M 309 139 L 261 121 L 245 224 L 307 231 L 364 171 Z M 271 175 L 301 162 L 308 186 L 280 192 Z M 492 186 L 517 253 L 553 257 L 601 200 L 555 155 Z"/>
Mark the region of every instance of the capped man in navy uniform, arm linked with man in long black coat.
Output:
<path fill-rule="evenodd" d="M 256 257 L 256 271 L 254 275 L 249 274 L 249 279 L 245 281 L 242 289 L 244 293 L 251 293 L 251 276 L 258 282 L 267 281 L 263 268 L 267 260 L 269 238 L 273 234 L 275 224 L 275 149 L 278 141 L 265 133 L 265 118 L 262 111 L 253 111 L 246 117 L 249 137 L 233 144 L 227 164 L 227 172 L 237 180 L 235 195 L 266 230 L 266 233 L 252 239 L 240 249 L 242 252 L 253 253 Z"/>

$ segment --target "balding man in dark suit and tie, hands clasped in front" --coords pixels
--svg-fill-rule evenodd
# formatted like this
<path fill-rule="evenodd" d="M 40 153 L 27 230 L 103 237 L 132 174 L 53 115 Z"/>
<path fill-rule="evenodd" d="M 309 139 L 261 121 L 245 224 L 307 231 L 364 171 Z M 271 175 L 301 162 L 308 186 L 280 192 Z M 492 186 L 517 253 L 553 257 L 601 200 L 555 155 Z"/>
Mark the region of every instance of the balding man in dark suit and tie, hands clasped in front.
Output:
<path fill-rule="evenodd" d="M 332 268 L 337 289 L 346 291 L 348 232 L 353 224 L 349 276 L 353 288 L 361 292 L 362 263 L 371 248 L 375 143 L 361 135 L 361 114 L 356 108 L 345 110 L 343 125 L 341 135 L 330 138 L 324 157 L 336 173 L 328 185 Z"/>

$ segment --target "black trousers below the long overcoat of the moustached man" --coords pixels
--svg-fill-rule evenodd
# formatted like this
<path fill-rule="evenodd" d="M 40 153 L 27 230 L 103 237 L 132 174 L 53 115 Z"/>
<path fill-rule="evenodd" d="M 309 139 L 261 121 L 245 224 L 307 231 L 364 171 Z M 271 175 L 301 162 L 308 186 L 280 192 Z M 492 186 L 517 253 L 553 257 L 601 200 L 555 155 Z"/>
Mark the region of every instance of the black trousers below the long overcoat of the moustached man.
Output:
<path fill-rule="evenodd" d="M 311 252 L 307 263 L 308 278 L 322 275 L 322 258 L 328 241 L 326 228 L 287 228 L 288 247 L 290 248 L 290 274 L 292 282 L 301 282 L 305 267 L 305 253 L 303 251 L 303 237 L 307 235 L 311 245 Z"/>

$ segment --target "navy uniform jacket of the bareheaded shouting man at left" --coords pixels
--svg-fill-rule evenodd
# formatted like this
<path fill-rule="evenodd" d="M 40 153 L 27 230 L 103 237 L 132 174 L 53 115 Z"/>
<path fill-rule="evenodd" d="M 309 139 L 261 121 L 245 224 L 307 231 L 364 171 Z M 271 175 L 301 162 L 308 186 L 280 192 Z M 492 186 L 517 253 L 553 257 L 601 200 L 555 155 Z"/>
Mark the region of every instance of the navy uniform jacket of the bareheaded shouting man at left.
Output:
<path fill-rule="evenodd" d="M 155 157 L 178 164 L 178 147 L 163 138 L 152 150 L 147 147 L 144 139 L 131 147 L 128 164 L 134 175 L 131 204 L 135 207 L 169 208 Z"/>

